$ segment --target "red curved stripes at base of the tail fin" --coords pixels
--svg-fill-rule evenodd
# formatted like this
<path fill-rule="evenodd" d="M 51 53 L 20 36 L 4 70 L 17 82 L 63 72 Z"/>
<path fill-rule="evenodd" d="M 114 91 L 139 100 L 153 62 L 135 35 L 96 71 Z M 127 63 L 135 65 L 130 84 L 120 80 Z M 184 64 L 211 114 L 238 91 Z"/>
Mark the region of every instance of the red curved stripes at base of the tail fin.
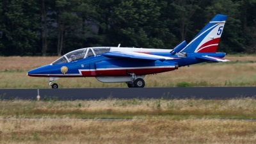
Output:
<path fill-rule="evenodd" d="M 219 44 L 220 38 L 214 38 L 212 40 L 209 40 L 208 42 L 205 42 L 205 44 L 201 45 L 198 49 L 201 49 L 202 47 L 205 47 L 204 49 L 199 50 L 198 52 L 216 52 L 218 45 L 212 45 L 212 44 Z M 206 47 L 207 45 L 212 45 L 209 47 Z"/>

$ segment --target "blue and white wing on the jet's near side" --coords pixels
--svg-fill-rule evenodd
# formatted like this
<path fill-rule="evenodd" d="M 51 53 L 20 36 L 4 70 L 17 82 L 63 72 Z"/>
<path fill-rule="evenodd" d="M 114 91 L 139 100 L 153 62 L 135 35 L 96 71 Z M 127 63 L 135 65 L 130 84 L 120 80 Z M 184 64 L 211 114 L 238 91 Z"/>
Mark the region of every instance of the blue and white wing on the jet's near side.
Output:
<path fill-rule="evenodd" d="M 103 54 L 103 56 L 106 56 L 108 58 L 132 58 L 132 59 L 140 59 L 140 60 L 151 60 L 151 61 L 165 61 L 165 60 L 173 60 L 177 58 L 170 58 L 167 56 L 157 56 L 153 54 L 144 54 L 144 53 L 138 53 L 138 52 L 120 52 L 120 51 L 113 51 L 113 52 L 107 52 Z"/>

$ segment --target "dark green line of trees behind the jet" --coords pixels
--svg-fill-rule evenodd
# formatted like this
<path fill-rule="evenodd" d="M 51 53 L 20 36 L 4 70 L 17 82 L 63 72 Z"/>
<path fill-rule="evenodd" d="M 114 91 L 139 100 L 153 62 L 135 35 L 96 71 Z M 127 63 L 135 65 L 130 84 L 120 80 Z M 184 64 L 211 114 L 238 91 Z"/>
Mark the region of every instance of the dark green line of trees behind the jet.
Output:
<path fill-rule="evenodd" d="M 256 53 L 256 0 L 0 0 L 0 55 L 118 44 L 173 49 L 217 13 L 228 16 L 218 51 Z"/>

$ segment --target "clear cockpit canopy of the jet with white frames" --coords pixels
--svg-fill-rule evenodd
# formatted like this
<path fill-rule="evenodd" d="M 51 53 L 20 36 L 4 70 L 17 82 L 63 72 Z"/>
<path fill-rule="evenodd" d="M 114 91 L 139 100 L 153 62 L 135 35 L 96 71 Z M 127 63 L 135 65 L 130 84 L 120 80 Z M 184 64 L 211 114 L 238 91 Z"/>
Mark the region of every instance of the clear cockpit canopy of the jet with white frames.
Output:
<path fill-rule="evenodd" d="M 54 61 L 52 65 L 58 65 L 61 63 L 69 63 L 71 61 L 77 61 L 91 56 L 97 56 L 110 51 L 110 47 L 89 47 L 83 49 L 77 49 L 72 52 L 68 52 L 64 56 Z"/>

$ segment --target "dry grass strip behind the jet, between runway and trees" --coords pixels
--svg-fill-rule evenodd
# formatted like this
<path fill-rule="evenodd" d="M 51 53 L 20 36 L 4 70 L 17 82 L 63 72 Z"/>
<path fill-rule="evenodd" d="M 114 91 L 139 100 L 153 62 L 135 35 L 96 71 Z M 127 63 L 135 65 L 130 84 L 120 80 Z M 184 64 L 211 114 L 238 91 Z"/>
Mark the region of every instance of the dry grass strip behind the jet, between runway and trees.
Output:
<path fill-rule="evenodd" d="M 0 88 L 50 88 L 49 78 L 28 77 L 32 68 L 46 65 L 58 57 L 0 57 Z M 227 56 L 239 63 L 214 63 L 180 67 L 179 70 L 145 77 L 146 87 L 173 87 L 182 81 L 192 86 L 256 86 L 256 56 Z M 252 62 L 246 62 L 252 61 Z M 94 77 L 61 78 L 60 88 L 127 87 L 125 83 L 100 83 Z"/>

